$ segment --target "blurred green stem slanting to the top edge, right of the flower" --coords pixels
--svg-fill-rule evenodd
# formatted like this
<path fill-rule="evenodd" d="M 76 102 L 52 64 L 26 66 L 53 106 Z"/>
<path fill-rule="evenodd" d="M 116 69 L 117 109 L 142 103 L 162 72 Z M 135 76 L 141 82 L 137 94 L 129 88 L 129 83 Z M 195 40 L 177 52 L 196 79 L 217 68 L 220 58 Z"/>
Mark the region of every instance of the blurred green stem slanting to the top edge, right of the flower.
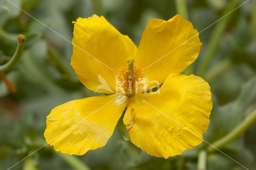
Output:
<path fill-rule="evenodd" d="M 237 3 L 238 0 L 230 0 L 228 7 L 226 8 L 226 10 L 224 10 L 224 14 L 228 14 L 228 12 L 232 11 L 236 7 Z M 212 35 L 210 37 L 210 40 L 208 42 L 208 45 L 198 67 L 197 75 L 199 75 L 200 77 L 203 77 L 204 72 L 212 59 L 212 56 L 218 45 L 220 37 L 223 34 L 224 30 L 226 29 L 230 16 L 231 15 L 228 14 L 227 16 L 219 20 L 212 32 Z"/>

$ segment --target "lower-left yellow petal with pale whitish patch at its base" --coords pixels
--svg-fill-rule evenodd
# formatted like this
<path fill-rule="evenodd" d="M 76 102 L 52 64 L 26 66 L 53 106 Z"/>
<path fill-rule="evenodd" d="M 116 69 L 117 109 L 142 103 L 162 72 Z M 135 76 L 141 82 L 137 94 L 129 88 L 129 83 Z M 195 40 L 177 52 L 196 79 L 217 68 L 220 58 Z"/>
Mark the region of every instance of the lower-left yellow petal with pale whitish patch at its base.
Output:
<path fill-rule="evenodd" d="M 64 103 L 46 117 L 46 142 L 56 151 L 85 154 L 104 146 L 126 107 L 121 94 L 88 97 Z"/>

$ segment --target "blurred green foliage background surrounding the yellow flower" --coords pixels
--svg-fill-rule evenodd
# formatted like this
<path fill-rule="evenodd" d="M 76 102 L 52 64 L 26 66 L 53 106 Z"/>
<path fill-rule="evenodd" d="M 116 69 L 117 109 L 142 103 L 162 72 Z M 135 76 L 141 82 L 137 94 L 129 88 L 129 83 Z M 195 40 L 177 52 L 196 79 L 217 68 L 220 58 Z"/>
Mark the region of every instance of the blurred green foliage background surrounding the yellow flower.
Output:
<path fill-rule="evenodd" d="M 104 17 L 139 45 L 148 20 L 168 20 L 182 14 L 198 32 L 228 14 L 245 0 L 9 0 L 52 30 L 72 40 L 78 17 Z M 72 44 L 0 0 L 0 65 L 8 62 L 17 37 L 27 36 L 20 60 L 6 77 L 17 87 L 8 91 L 0 80 L 0 169 L 8 169 L 44 144 L 46 116 L 73 99 L 94 96 L 78 81 L 70 66 Z M 250 0 L 199 34 L 203 43 L 198 59 L 184 73 L 203 77 L 214 102 L 204 140 L 223 138 L 256 109 L 256 1 Z M 96 94 L 104 95 L 104 94 Z M 254 114 L 255 115 L 255 114 Z M 250 118 L 252 121 L 252 119 Z M 255 121 L 255 120 L 254 120 Z M 253 121 L 251 122 L 251 124 Z M 256 124 L 218 147 L 248 169 L 256 169 Z M 13 170 L 242 170 L 234 160 L 202 142 L 180 156 L 149 156 L 116 128 L 106 146 L 83 156 L 55 152 L 46 145 L 14 166 Z M 207 157 L 202 150 L 208 150 Z M 198 158 L 198 155 L 199 158 Z M 205 159 L 206 160 L 205 160 Z M 199 167 L 199 168 L 201 168 Z"/>

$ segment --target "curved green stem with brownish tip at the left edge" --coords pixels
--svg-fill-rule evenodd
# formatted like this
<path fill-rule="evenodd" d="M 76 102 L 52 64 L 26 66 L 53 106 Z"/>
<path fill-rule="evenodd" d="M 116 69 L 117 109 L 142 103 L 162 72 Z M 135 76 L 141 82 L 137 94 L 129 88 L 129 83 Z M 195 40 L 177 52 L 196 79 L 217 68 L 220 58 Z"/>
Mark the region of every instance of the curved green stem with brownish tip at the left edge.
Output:
<path fill-rule="evenodd" d="M 20 34 L 17 40 L 18 40 L 18 46 L 16 48 L 14 55 L 7 63 L 5 63 L 4 65 L 0 65 L 0 72 L 6 72 L 12 69 L 14 65 L 16 65 L 16 63 L 19 61 L 20 56 L 23 52 L 26 36 L 23 36 L 22 34 Z"/>

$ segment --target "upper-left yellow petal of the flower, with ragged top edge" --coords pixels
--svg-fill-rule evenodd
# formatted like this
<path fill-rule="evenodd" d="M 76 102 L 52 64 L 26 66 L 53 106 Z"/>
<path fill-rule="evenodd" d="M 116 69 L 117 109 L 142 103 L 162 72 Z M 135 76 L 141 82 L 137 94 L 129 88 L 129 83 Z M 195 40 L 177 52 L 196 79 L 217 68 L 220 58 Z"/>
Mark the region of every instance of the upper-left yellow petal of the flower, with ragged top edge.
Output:
<path fill-rule="evenodd" d="M 116 72 L 120 65 L 126 66 L 129 56 L 134 56 L 136 45 L 103 16 L 78 18 L 73 23 L 71 65 L 78 78 L 90 90 L 114 93 Z"/>

